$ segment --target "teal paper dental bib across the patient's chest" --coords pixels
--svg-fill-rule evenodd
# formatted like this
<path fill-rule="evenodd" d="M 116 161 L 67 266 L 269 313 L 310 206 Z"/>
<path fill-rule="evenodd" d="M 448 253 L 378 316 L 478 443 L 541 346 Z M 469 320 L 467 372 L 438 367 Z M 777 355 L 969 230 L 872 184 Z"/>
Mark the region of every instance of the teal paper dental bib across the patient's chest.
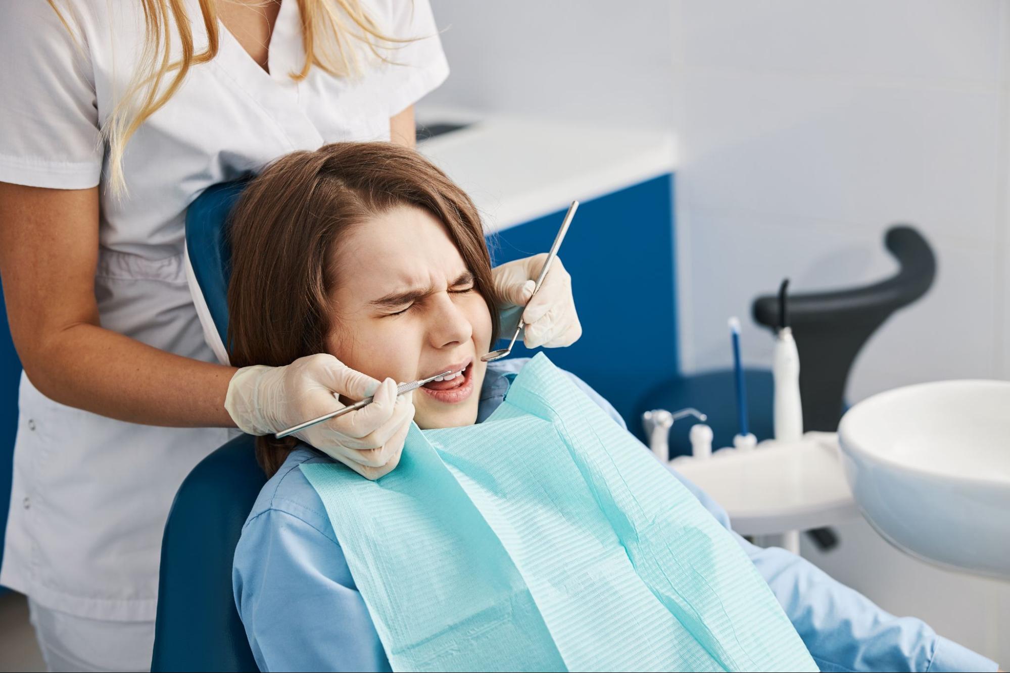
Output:
<path fill-rule="evenodd" d="M 730 534 L 543 354 L 377 481 L 301 469 L 393 670 L 817 670 Z"/>

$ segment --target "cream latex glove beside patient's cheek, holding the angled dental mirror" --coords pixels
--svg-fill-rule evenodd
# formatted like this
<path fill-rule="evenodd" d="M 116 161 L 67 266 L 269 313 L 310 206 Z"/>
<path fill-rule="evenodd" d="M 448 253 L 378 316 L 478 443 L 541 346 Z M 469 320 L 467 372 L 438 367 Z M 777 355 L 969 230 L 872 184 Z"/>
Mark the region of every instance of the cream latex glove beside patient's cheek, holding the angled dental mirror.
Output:
<path fill-rule="evenodd" d="M 522 341 L 527 348 L 571 346 L 582 336 L 582 324 L 572 296 L 572 275 L 565 270 L 561 257 L 554 257 L 540 291 L 533 301 L 529 301 L 536 287 L 536 276 L 546 260 L 547 253 L 541 252 L 491 269 L 495 290 L 504 303 L 500 307 L 501 336 L 512 338 L 521 314 L 525 323 Z"/>

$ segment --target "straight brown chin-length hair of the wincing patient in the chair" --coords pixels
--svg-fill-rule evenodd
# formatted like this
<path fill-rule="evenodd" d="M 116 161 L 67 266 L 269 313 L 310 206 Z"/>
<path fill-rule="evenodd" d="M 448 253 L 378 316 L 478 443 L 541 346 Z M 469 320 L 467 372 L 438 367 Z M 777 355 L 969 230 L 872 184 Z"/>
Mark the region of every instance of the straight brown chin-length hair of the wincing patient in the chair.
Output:
<path fill-rule="evenodd" d="M 491 258 L 477 208 L 445 174 L 389 142 L 341 142 L 281 157 L 245 188 L 230 218 L 228 351 L 231 364 L 290 364 L 326 352 L 335 245 L 349 227 L 398 206 L 444 224 L 499 332 Z M 274 474 L 293 437 L 257 438 L 257 460 Z"/>

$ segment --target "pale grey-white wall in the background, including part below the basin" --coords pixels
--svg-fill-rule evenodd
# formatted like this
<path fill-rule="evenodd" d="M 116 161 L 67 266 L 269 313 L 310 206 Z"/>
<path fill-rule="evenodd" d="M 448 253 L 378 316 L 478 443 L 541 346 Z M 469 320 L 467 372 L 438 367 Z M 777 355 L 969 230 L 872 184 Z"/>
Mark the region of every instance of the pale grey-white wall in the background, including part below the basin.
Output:
<path fill-rule="evenodd" d="M 452 75 L 422 110 L 676 132 L 688 371 L 729 364 L 734 314 L 744 359 L 769 366 L 751 300 L 786 275 L 799 292 L 879 279 L 896 267 L 884 230 L 908 222 L 936 249 L 937 279 L 864 349 L 849 400 L 1010 378 L 1010 0 L 432 6 L 449 26 Z M 865 524 L 843 533 L 837 552 L 810 556 L 892 611 L 1010 662 L 998 638 L 1010 633 L 1010 585 L 912 561 Z"/>

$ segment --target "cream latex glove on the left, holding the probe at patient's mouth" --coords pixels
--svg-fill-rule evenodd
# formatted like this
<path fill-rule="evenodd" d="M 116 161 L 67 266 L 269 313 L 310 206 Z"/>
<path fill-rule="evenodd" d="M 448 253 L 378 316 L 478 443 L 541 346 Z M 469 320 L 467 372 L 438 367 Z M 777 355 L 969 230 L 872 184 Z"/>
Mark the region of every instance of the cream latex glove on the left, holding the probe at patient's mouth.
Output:
<path fill-rule="evenodd" d="M 413 392 L 397 397 L 396 381 L 380 382 L 332 355 L 301 357 L 283 367 L 242 367 L 231 377 L 224 408 L 250 435 L 270 435 L 344 407 L 337 399 L 375 402 L 317 423 L 294 436 L 369 479 L 400 462 L 414 418 Z"/>

